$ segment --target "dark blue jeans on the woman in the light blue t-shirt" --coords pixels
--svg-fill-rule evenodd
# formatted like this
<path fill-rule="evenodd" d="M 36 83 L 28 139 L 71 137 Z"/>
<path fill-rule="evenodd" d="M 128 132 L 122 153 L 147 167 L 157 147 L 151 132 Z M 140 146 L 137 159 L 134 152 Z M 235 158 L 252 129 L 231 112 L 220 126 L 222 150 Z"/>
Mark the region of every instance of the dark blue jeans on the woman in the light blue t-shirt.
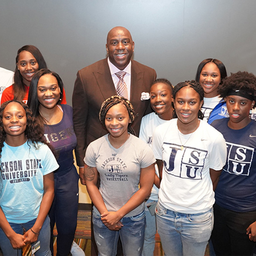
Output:
<path fill-rule="evenodd" d="M 33 227 L 35 224 L 36 219 L 33 219 L 29 222 L 22 223 L 22 224 L 16 224 L 16 223 L 10 223 L 12 229 L 17 234 L 23 235 L 24 231 L 27 231 Z M 35 253 L 36 256 L 51 256 L 50 251 L 50 220 L 47 216 L 42 229 L 40 231 L 40 234 L 38 236 L 38 241 L 40 241 L 40 249 Z M 0 247 L 4 253 L 4 256 L 22 256 L 22 249 L 13 249 L 10 240 L 5 235 L 4 231 L 0 229 Z"/>

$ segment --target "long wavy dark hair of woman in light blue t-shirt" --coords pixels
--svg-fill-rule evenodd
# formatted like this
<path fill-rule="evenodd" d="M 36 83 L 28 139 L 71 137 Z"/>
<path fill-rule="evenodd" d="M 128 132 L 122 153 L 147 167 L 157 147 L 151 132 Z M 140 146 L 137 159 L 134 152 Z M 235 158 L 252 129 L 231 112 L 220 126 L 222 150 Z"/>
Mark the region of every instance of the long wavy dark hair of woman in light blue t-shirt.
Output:
<path fill-rule="evenodd" d="M 4 130 L 4 124 L 3 124 L 3 113 L 4 113 L 6 106 L 11 102 L 19 103 L 25 110 L 25 113 L 26 113 L 25 135 L 27 137 L 27 143 L 29 141 L 31 141 L 31 143 L 33 144 L 33 146 L 35 148 L 38 148 L 38 146 L 37 146 L 38 142 L 46 144 L 45 139 L 44 139 L 43 129 L 37 122 L 36 118 L 33 117 L 32 111 L 30 110 L 30 108 L 22 101 L 9 100 L 9 101 L 4 102 L 0 107 L 0 159 L 2 157 L 2 150 L 4 147 L 4 141 L 6 138 L 6 132 Z"/>

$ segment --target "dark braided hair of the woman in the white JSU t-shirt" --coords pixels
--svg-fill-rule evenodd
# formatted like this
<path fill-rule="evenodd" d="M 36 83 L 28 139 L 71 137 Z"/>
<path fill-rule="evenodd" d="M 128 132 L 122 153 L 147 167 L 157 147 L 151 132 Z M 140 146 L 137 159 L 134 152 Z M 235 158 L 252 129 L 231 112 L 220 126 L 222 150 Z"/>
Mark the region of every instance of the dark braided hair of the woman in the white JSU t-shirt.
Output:
<path fill-rule="evenodd" d="M 200 97 L 200 101 L 204 100 L 204 89 L 203 87 L 198 83 L 196 82 L 195 80 L 191 80 L 191 81 L 185 81 L 185 82 L 179 82 L 177 84 L 177 86 L 174 87 L 174 91 L 173 91 L 173 98 L 175 100 L 176 98 L 176 94 L 183 88 L 183 87 L 186 87 L 186 86 L 189 86 L 191 88 L 193 88 L 199 95 Z M 177 118 L 177 114 L 176 114 L 176 111 L 174 109 L 174 112 L 173 112 L 173 118 Z M 198 118 L 199 119 L 202 119 L 204 118 L 204 114 L 201 110 L 198 111 Z"/>

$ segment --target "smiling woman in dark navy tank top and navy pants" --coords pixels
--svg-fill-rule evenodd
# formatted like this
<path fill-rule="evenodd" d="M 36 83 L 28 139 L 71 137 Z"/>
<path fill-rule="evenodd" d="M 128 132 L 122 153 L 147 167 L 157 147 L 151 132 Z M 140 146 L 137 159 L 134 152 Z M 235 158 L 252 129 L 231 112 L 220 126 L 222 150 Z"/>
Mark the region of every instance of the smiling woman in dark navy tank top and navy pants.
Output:
<path fill-rule="evenodd" d="M 48 69 L 39 70 L 31 80 L 27 104 L 44 129 L 44 136 L 56 151 L 60 168 L 54 173 L 55 196 L 49 212 L 51 236 L 56 222 L 57 255 L 68 255 L 74 240 L 78 211 L 78 174 L 73 149 L 76 136 L 71 106 L 61 104 L 63 82 Z M 51 237 L 53 255 L 53 237 Z"/>

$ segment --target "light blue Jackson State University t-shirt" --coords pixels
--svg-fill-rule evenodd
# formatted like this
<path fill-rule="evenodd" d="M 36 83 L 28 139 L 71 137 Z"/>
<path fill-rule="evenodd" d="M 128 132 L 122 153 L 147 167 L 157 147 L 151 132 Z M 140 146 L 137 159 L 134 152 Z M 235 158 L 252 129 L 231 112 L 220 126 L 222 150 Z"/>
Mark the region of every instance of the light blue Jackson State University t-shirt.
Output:
<path fill-rule="evenodd" d="M 43 176 L 59 168 L 47 145 L 29 142 L 19 147 L 4 143 L 1 161 L 3 187 L 0 206 L 12 223 L 37 218 L 44 193 Z"/>

